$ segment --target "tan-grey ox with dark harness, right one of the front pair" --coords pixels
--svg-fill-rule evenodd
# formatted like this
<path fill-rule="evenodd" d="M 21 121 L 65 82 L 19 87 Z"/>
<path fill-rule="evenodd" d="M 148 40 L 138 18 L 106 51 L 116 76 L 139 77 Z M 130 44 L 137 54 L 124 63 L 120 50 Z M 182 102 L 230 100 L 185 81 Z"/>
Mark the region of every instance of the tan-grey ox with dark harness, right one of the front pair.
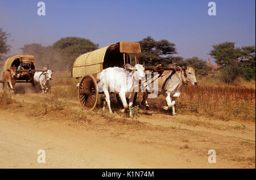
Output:
<path fill-rule="evenodd" d="M 158 77 L 153 77 L 155 79 Z M 163 106 L 164 110 L 168 110 L 172 107 L 172 115 L 176 115 L 175 112 L 175 101 L 176 98 L 180 97 L 181 89 L 184 85 L 187 85 L 188 82 L 191 82 L 192 85 L 197 85 L 195 70 L 188 66 L 177 72 L 172 70 L 165 70 L 162 75 L 158 78 L 158 94 L 163 94 L 166 98 L 167 106 Z M 143 102 L 142 104 L 146 105 L 146 108 L 149 109 L 147 103 L 147 91 L 143 93 Z"/>

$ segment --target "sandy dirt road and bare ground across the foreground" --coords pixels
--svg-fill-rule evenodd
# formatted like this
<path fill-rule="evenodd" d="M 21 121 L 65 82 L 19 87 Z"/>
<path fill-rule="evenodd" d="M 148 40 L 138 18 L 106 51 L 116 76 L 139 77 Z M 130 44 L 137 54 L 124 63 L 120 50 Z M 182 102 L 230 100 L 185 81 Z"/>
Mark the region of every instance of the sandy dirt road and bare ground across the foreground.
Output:
<path fill-rule="evenodd" d="M 23 103 L 38 97 L 14 95 Z M 37 162 L 39 149 L 45 164 Z M 216 150 L 215 164 L 209 149 Z M 0 168 L 255 168 L 255 123 L 167 114 L 77 123 L 0 109 Z"/>

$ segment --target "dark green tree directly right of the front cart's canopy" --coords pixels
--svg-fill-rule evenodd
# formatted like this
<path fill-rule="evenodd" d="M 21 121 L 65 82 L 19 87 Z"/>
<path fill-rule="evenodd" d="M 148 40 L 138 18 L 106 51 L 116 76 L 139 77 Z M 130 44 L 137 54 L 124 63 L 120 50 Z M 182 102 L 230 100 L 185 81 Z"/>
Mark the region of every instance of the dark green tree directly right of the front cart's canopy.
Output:
<path fill-rule="evenodd" d="M 142 53 L 138 54 L 139 62 L 144 62 L 146 66 L 170 64 L 172 55 L 177 53 L 175 44 L 168 40 L 155 41 L 151 36 L 147 36 L 138 43 L 142 50 Z"/>

